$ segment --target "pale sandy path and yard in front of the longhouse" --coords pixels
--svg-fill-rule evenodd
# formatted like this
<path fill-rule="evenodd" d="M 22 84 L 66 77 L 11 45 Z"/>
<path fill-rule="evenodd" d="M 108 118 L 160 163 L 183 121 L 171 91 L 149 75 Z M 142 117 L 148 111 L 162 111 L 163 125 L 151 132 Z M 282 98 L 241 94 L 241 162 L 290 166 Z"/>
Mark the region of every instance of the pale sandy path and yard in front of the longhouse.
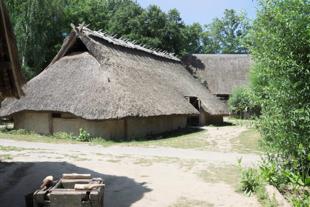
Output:
<path fill-rule="evenodd" d="M 218 143 L 218 148 L 229 149 L 229 139 L 246 128 L 221 127 L 217 130 L 208 127 L 208 130 L 202 136 L 197 135 L 199 139 L 213 139 Z M 219 137 L 223 137 L 223 141 Z M 11 140 L 0 140 L 0 145 L 40 148 L 0 151 L 2 154 L 10 154 L 16 162 L 0 172 L 2 180 L 9 178 L 8 175 L 16 167 L 34 163 L 16 185 L 0 194 L 1 207 L 24 206 L 24 195 L 35 191 L 47 175 L 59 178 L 62 173 L 72 172 L 91 173 L 92 177 L 103 178 L 106 183 L 104 205 L 107 207 L 170 206 L 181 197 L 205 202 L 200 206 L 206 203 L 213 206 L 260 206 L 255 197 L 247 198 L 235 192 L 234 183 L 231 183 L 233 178 L 230 179 L 230 174 L 236 174 L 236 157 L 243 156 L 243 164 L 247 164 L 258 159 L 257 155 L 171 147 L 104 148 L 86 144 Z M 200 174 L 205 171 L 211 174 L 203 178 Z M 1 185 L 7 184 L 0 182 L 0 189 Z M 195 206 L 190 203 L 188 206 Z"/>

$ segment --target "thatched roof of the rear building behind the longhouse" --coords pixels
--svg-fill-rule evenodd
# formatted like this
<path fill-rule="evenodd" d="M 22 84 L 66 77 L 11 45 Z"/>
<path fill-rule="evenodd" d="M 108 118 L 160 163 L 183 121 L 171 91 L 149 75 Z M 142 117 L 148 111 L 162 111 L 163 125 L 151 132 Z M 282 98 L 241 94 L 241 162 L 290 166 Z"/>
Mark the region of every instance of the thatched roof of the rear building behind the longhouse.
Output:
<path fill-rule="evenodd" d="M 250 55 L 187 54 L 181 59 L 185 68 L 200 77 L 213 94 L 231 94 L 232 88 L 248 83 Z"/>

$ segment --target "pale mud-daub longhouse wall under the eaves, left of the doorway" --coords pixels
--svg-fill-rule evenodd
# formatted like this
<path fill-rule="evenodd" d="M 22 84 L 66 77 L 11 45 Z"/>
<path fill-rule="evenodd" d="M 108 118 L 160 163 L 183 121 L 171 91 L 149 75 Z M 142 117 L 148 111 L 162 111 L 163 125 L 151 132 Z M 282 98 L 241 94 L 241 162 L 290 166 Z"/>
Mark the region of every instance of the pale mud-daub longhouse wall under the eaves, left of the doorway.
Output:
<path fill-rule="evenodd" d="M 186 117 L 173 116 L 108 121 L 91 121 L 71 114 L 61 114 L 60 118 L 54 118 L 51 113 L 36 112 L 20 112 L 14 116 L 14 129 L 23 128 L 41 134 L 73 132 L 78 136 L 79 129 L 83 128 L 92 137 L 104 139 L 133 138 L 185 127 Z"/>

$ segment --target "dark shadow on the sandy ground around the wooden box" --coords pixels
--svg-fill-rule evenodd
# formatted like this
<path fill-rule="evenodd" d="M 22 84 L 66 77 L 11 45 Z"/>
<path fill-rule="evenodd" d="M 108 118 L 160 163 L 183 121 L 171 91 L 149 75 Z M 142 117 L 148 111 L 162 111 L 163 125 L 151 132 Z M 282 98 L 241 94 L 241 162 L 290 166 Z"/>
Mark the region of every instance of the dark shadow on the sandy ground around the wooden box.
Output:
<path fill-rule="evenodd" d="M 104 171 L 104 166 L 101 171 Z M 137 183 L 132 178 L 101 174 L 67 162 L 15 162 L 0 170 L 0 188 L 5 189 L 0 191 L 0 206 L 25 206 L 24 196 L 38 190 L 46 176 L 52 175 L 58 179 L 62 178 L 63 173 L 91 174 L 92 178 L 103 178 L 106 185 L 104 206 L 131 206 L 142 199 L 145 192 L 152 191 L 145 183 Z"/>

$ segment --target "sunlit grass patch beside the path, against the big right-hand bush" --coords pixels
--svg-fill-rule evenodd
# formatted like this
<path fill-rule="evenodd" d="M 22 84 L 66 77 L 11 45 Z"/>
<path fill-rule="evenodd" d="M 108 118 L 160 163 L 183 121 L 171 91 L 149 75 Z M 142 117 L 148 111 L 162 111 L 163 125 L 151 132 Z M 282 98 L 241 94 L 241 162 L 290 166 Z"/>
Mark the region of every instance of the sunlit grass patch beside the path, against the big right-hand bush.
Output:
<path fill-rule="evenodd" d="M 254 127 L 241 132 L 237 137 L 230 140 L 233 151 L 250 154 L 263 152 L 263 148 L 259 146 L 260 133 Z"/>

